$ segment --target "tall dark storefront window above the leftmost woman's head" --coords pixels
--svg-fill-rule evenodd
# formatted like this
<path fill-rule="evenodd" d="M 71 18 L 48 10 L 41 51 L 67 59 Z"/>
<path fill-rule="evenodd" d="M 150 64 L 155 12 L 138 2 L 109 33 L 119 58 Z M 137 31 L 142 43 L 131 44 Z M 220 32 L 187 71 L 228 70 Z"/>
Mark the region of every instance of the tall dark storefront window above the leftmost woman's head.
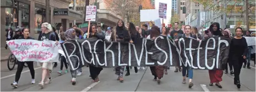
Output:
<path fill-rule="evenodd" d="M 29 28 L 29 5 L 18 4 L 18 26 Z"/>

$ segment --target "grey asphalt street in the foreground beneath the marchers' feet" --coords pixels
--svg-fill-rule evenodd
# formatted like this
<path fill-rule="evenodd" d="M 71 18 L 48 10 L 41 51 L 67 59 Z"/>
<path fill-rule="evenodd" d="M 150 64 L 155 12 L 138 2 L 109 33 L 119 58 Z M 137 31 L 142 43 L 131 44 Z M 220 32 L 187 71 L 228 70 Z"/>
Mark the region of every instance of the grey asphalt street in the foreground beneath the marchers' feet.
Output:
<path fill-rule="evenodd" d="M 254 62 L 251 61 L 251 64 Z M 134 72 L 134 69 L 130 70 L 130 76 L 124 76 L 124 83 L 117 81 L 117 76 L 113 71 L 113 68 L 104 68 L 99 76 L 99 83 L 91 83 L 89 77 L 89 67 L 83 67 L 83 74 L 77 77 L 77 84 L 72 85 L 70 83 L 70 72 L 67 74 L 59 75 L 60 64 L 56 68 L 53 68 L 51 73 L 52 81 L 50 84 L 46 84 L 44 89 L 40 89 L 38 83 L 41 79 L 41 67 L 35 66 L 35 80 L 36 84 L 31 84 L 31 76 L 28 67 L 24 67 L 21 74 L 18 88 L 14 89 L 10 84 L 14 81 L 14 70 L 9 71 L 7 68 L 7 62 L 1 62 L 1 91 L 255 91 L 255 66 L 251 69 L 242 68 L 241 89 L 237 89 L 233 84 L 233 75 L 224 74 L 222 77 L 222 89 L 209 86 L 209 73 L 207 70 L 194 70 L 193 80 L 194 86 L 188 88 L 188 78 L 186 84 L 182 84 L 182 73 L 173 72 L 175 67 L 171 67 L 168 70 L 168 74 L 164 75 L 161 79 L 161 84 L 157 84 L 152 79 L 154 78 L 150 72 L 150 68 L 146 67 L 145 70 L 139 70 L 138 73 Z M 64 67 L 63 67 L 64 68 Z M 64 70 L 63 70 L 64 71 Z M 125 74 L 125 73 L 124 73 Z"/>

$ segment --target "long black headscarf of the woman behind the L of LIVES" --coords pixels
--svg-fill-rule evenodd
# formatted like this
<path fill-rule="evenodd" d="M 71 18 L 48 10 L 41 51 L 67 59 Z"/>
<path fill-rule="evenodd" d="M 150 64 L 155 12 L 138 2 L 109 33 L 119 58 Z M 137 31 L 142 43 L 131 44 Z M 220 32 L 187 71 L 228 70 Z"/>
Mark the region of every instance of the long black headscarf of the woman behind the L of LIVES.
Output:
<path fill-rule="evenodd" d="M 119 21 L 120 20 L 117 21 L 116 34 L 118 35 L 119 38 L 130 39 L 129 32 L 126 30 L 123 20 L 121 20 L 123 22 L 123 25 L 121 27 L 118 26 Z"/>

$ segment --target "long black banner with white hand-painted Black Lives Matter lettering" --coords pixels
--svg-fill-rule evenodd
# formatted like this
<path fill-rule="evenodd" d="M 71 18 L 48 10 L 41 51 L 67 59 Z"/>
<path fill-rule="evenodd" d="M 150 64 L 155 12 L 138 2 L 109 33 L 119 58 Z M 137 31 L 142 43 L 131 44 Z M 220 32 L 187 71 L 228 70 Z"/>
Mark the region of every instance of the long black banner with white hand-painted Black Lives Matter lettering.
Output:
<path fill-rule="evenodd" d="M 155 40 L 135 39 L 134 43 L 78 39 L 62 44 L 72 70 L 86 63 L 96 67 L 190 66 L 200 70 L 225 67 L 230 39 L 213 37 L 204 41 L 181 38 L 175 42 L 159 36 Z"/>

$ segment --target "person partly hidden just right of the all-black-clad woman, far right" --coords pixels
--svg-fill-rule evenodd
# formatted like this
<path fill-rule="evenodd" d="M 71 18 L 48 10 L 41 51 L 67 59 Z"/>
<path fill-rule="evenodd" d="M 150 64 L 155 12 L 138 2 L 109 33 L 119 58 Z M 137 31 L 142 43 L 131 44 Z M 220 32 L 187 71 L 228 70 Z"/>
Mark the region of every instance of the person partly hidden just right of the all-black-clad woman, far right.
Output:
<path fill-rule="evenodd" d="M 250 31 L 246 31 L 246 34 L 244 35 L 244 37 L 252 37 L 252 36 L 250 36 Z M 248 49 L 247 58 L 246 58 L 246 61 L 244 62 L 243 68 L 245 68 L 247 65 L 247 68 L 250 69 L 250 54 L 252 53 L 253 46 L 250 45 L 250 46 L 248 46 L 247 49 Z"/>

